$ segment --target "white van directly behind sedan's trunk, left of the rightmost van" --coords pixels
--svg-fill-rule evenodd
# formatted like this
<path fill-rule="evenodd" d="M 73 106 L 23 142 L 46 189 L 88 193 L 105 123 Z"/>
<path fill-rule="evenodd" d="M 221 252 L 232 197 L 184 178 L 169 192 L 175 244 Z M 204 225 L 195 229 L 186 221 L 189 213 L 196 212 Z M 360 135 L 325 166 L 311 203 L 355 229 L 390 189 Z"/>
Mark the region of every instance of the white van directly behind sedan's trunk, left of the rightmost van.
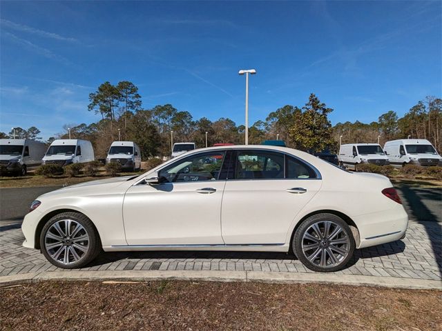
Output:
<path fill-rule="evenodd" d="M 346 143 L 340 146 L 338 161 L 341 167 L 356 170 L 361 163 L 386 165 L 388 157 L 378 143 Z"/>

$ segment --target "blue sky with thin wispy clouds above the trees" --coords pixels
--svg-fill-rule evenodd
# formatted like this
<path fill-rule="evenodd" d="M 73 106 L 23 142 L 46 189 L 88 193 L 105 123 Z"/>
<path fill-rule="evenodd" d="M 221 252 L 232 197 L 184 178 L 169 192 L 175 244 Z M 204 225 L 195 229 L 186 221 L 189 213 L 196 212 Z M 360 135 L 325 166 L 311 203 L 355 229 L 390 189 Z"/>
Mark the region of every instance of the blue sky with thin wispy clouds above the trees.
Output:
<path fill-rule="evenodd" d="M 144 108 L 250 123 L 310 92 L 332 123 L 441 97 L 440 1 L 1 1 L 0 131 L 91 123 L 88 94 L 133 81 Z"/>

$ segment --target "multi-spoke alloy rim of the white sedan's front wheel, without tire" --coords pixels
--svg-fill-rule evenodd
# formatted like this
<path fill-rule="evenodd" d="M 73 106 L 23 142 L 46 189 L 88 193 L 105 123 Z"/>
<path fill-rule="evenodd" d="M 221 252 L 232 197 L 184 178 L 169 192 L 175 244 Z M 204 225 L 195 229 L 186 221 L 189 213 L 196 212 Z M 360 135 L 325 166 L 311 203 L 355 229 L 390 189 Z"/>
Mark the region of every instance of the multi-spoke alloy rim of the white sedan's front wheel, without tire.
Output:
<path fill-rule="evenodd" d="M 46 252 L 52 259 L 64 265 L 84 259 L 89 243 L 88 232 L 73 219 L 56 221 L 50 225 L 44 237 Z"/>

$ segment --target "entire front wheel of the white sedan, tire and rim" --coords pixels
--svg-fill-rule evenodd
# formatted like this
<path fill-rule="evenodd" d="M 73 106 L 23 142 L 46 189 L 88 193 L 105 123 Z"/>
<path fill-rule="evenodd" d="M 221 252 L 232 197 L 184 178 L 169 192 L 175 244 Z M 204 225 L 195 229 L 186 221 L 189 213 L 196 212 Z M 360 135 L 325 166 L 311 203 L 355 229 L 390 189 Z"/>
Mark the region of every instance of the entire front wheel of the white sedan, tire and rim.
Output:
<path fill-rule="evenodd" d="M 93 223 L 84 214 L 63 212 L 46 223 L 40 234 L 40 247 L 53 265 L 73 269 L 97 257 L 101 243 Z"/>

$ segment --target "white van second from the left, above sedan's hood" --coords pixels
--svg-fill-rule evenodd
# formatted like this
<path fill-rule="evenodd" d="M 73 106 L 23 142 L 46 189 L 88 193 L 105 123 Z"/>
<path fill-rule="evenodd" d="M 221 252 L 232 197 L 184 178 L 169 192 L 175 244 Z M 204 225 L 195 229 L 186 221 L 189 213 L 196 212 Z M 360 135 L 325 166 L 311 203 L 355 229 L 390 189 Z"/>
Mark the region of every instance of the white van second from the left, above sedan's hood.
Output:
<path fill-rule="evenodd" d="M 68 165 L 94 161 L 92 143 L 80 139 L 57 139 L 52 141 L 46 152 L 44 164 Z"/>

